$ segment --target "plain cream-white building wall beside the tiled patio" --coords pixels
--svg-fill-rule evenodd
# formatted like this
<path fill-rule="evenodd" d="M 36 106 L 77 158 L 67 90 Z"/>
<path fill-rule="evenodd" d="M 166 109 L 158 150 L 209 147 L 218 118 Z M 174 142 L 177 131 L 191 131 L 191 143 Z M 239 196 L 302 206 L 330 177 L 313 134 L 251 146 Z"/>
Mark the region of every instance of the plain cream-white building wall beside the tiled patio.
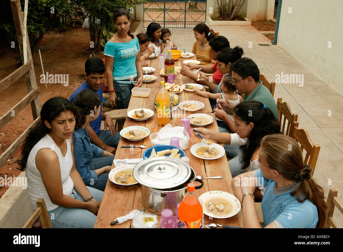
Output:
<path fill-rule="evenodd" d="M 288 13 L 289 7 L 292 14 Z M 342 0 L 283 0 L 277 35 L 278 46 L 340 95 L 343 95 L 342 9 Z"/>

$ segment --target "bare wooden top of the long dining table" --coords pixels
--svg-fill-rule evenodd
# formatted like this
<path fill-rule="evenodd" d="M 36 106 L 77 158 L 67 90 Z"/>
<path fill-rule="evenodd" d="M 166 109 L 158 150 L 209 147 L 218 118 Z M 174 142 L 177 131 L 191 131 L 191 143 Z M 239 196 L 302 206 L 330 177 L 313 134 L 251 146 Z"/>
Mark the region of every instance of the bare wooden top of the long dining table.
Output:
<path fill-rule="evenodd" d="M 195 56 L 192 58 L 180 58 L 179 60 L 175 61 L 175 66 L 181 66 L 181 62 L 187 59 L 196 59 Z M 149 97 L 133 97 L 131 96 L 128 111 L 132 109 L 138 108 L 147 108 L 153 111 L 156 111 L 154 106 L 154 97 L 157 94 L 160 88 L 160 81 L 164 80 L 164 77 L 159 74 L 158 69 L 158 62 L 159 57 L 155 59 L 147 60 L 150 61 L 150 67 L 156 69 L 155 72 L 152 74 L 157 76 L 157 79 L 150 83 L 143 83 L 142 87 L 150 87 L 151 92 Z M 193 80 L 189 79 L 188 77 L 182 76 L 181 74 L 176 75 L 176 84 L 180 86 L 184 83 L 194 83 Z M 204 89 L 203 89 L 204 90 Z M 180 97 L 180 102 L 185 100 L 197 100 L 204 103 L 205 107 L 201 110 L 195 112 L 189 112 L 184 110 L 176 110 L 174 118 L 170 120 L 170 124 L 174 126 L 181 126 L 182 117 L 186 117 L 187 114 L 191 113 L 206 113 L 211 115 L 214 118 L 212 113 L 212 109 L 209 103 L 209 99 L 198 96 L 196 92 L 187 92 L 182 91 L 178 93 Z M 155 112 L 156 113 L 156 112 Z M 135 121 L 126 117 L 125 124 L 123 128 L 139 125 L 150 129 L 151 133 L 158 132 L 164 126 L 159 126 L 157 124 L 156 114 L 145 121 Z M 191 128 L 195 128 L 191 125 Z M 218 131 L 218 126 L 216 120 L 213 123 L 207 125 L 205 128 L 209 130 Z M 119 132 L 117 133 L 119 134 Z M 189 157 L 189 164 L 195 170 L 196 175 L 201 175 L 202 177 L 214 177 L 214 176 L 223 176 L 224 179 L 203 179 L 204 185 L 201 189 L 196 190 L 196 196 L 200 196 L 201 194 L 208 192 L 208 191 L 225 191 L 231 194 L 233 193 L 232 185 L 231 185 L 231 172 L 227 163 L 226 156 L 224 155 L 221 158 L 214 159 L 214 160 L 203 160 L 193 156 L 190 152 L 190 148 L 193 144 L 199 143 L 200 139 L 196 136 L 192 135 L 189 140 L 188 149 L 185 150 L 187 157 Z M 148 147 L 151 147 L 150 138 L 145 137 L 141 141 L 132 142 L 129 140 L 120 137 L 117 152 L 115 155 L 115 159 L 125 159 L 125 158 L 142 158 L 145 149 L 141 148 L 133 148 L 133 151 L 130 151 L 129 148 L 121 148 L 122 145 L 140 145 L 144 144 Z M 223 145 L 222 145 L 223 146 Z M 112 169 L 114 168 L 114 164 L 112 165 Z M 196 184 L 198 182 L 195 182 Z M 112 183 L 110 180 L 107 181 L 106 189 L 104 192 L 104 196 L 99 208 L 99 212 L 95 221 L 94 228 L 130 228 L 132 220 L 128 220 L 122 224 L 116 224 L 111 226 L 111 221 L 114 221 L 117 217 L 124 216 L 128 214 L 133 209 L 143 209 L 145 208 L 141 201 L 141 185 L 132 185 L 132 186 L 120 186 Z M 147 213 L 149 211 L 146 211 Z M 158 221 L 160 222 L 160 215 L 158 216 Z M 242 212 L 240 211 L 237 215 L 227 218 L 227 219 L 209 219 L 208 216 L 204 215 L 204 224 L 210 221 L 216 221 L 221 225 L 229 225 L 229 226 L 236 226 L 236 227 L 243 227 L 243 216 Z"/>

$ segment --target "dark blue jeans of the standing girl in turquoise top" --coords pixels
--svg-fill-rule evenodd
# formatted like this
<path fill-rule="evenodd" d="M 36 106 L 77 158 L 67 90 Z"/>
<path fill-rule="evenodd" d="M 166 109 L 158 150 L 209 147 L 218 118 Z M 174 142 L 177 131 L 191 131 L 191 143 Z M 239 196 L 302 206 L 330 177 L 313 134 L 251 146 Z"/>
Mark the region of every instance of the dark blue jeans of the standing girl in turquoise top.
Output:
<path fill-rule="evenodd" d="M 129 107 L 131 89 L 134 81 L 116 81 L 113 80 L 113 86 L 116 89 L 117 95 L 117 109 L 124 109 Z"/>

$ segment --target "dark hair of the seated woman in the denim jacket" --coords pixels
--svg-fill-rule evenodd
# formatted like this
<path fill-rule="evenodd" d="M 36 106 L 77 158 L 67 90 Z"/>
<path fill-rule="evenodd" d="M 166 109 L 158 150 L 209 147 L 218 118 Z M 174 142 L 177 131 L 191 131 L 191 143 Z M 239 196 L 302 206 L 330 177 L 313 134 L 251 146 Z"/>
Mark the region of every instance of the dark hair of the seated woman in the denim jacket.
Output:
<path fill-rule="evenodd" d="M 76 95 L 73 102 L 75 109 L 78 111 L 78 120 L 76 120 L 75 130 L 81 128 L 82 125 L 86 123 L 86 115 L 89 115 L 92 111 L 94 113 L 94 107 L 98 107 L 100 104 L 100 97 L 91 89 L 83 89 Z"/>

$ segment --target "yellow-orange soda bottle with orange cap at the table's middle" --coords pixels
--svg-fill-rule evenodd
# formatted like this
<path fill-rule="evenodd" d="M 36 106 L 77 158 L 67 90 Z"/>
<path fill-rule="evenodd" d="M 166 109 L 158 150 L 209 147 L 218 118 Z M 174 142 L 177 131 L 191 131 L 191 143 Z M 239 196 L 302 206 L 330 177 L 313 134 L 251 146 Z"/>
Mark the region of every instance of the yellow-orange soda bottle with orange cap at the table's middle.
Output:
<path fill-rule="evenodd" d="M 167 125 L 170 122 L 170 95 L 161 81 L 161 88 L 156 95 L 156 116 L 158 125 Z"/>

